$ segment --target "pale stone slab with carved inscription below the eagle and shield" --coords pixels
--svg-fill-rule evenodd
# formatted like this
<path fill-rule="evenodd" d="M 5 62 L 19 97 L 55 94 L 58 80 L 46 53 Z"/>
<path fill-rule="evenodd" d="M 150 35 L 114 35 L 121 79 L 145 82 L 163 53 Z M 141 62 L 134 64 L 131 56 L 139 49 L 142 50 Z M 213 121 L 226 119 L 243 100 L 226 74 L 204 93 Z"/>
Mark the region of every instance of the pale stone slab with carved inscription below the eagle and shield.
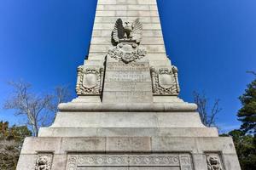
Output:
<path fill-rule="evenodd" d="M 125 64 L 107 57 L 103 103 L 137 102 L 153 102 L 149 62 Z"/>

